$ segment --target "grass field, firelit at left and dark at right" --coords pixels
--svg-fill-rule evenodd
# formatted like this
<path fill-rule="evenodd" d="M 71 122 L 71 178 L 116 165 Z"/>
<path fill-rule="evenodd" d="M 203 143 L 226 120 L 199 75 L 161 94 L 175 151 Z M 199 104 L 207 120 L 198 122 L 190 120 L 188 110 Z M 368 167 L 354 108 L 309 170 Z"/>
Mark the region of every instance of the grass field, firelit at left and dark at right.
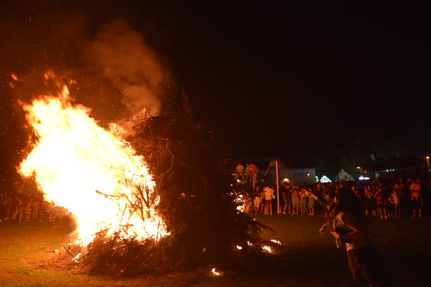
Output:
<path fill-rule="evenodd" d="M 277 239 L 287 253 L 232 275 L 211 276 L 209 270 L 175 273 L 157 278 L 108 278 L 68 275 L 39 267 L 56 256 L 46 251 L 69 241 L 66 225 L 48 222 L 0 222 L 0 286 L 353 286 L 345 248 L 337 249 L 329 233 L 318 231 L 325 223 L 315 216 L 253 216 L 273 228 L 264 239 Z M 395 286 L 430 286 L 431 217 L 373 219 L 390 229 L 393 240 L 377 244 Z"/>

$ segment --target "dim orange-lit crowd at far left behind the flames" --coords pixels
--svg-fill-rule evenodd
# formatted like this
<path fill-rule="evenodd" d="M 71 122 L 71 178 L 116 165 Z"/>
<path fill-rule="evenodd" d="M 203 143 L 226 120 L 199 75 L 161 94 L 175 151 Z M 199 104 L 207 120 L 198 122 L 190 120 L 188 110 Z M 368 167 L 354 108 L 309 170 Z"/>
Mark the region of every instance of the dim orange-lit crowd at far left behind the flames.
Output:
<path fill-rule="evenodd" d="M 43 199 L 43 194 L 27 195 L 22 191 L 1 194 L 1 217 L 18 223 L 46 219 L 51 223 L 61 222 L 67 215 L 64 207 L 59 207 Z"/>

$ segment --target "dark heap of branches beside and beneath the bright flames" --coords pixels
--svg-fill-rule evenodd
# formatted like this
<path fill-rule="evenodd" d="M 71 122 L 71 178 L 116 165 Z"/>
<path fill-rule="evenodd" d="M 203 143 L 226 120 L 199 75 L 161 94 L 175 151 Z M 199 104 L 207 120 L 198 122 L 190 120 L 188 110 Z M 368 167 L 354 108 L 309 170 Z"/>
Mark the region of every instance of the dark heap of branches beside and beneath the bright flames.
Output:
<path fill-rule="evenodd" d="M 135 186 L 131 212 L 146 220 L 146 207 L 154 208 L 168 235 L 137 240 L 100 231 L 87 247 L 64 247 L 59 268 L 111 275 L 213 266 L 227 270 L 255 261 L 265 253 L 264 246 L 279 248 L 260 238 L 261 229 L 268 227 L 238 210 L 244 188 L 228 173 L 227 157 L 215 144 L 214 133 L 193 119 L 185 95 L 183 102 L 180 111 L 150 117 L 126 137 L 156 183 L 152 193 Z M 127 234 L 127 225 L 119 228 Z"/>

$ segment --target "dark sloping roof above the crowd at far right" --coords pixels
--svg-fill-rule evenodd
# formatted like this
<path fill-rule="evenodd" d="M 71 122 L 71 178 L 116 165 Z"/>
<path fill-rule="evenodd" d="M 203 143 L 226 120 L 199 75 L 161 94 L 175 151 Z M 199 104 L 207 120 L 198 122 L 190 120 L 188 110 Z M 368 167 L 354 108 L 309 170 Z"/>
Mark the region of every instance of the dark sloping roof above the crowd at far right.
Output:
<path fill-rule="evenodd" d="M 393 160 L 384 160 L 376 163 L 362 164 L 359 167 L 367 172 L 379 172 L 383 170 L 400 170 L 404 168 L 426 167 L 427 159 L 425 157 L 401 157 Z"/>

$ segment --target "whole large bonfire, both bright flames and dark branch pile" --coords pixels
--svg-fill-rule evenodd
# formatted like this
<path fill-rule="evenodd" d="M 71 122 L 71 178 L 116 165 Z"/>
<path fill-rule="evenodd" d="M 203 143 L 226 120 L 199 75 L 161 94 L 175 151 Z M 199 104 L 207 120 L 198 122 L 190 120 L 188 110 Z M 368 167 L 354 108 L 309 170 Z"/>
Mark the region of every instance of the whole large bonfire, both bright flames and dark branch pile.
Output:
<path fill-rule="evenodd" d="M 265 226 L 237 210 L 243 189 L 187 98 L 180 111 L 126 133 L 115 123 L 100 127 L 66 85 L 58 87 L 56 96 L 22 103 L 36 140 L 19 172 L 75 218 L 74 241 L 58 259 L 63 267 L 115 274 L 227 268 L 262 253 Z"/>

